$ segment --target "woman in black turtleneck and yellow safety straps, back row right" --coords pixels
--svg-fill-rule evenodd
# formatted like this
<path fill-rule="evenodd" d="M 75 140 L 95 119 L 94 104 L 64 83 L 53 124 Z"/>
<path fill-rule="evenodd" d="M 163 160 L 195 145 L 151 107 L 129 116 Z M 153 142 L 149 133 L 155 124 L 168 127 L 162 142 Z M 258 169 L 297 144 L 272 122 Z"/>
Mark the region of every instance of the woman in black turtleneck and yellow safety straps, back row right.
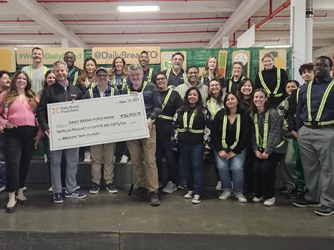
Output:
<path fill-rule="evenodd" d="M 275 67 L 275 57 L 270 53 L 263 55 L 264 70 L 255 78 L 255 88 L 264 88 L 268 94 L 268 101 L 272 108 L 277 108 L 284 100 L 284 83 L 288 81 L 288 74 L 283 68 Z"/>

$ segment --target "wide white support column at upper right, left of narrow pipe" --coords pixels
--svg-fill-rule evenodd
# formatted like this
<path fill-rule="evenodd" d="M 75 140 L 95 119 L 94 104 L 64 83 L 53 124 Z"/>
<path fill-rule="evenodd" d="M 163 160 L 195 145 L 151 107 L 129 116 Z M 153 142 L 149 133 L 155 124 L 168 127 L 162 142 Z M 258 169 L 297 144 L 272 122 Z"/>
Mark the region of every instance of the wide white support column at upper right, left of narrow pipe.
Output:
<path fill-rule="evenodd" d="M 290 45 L 293 50 L 292 78 L 300 83 L 304 80 L 299 75 L 298 69 L 305 63 L 306 49 L 306 0 L 291 0 L 290 6 Z"/>

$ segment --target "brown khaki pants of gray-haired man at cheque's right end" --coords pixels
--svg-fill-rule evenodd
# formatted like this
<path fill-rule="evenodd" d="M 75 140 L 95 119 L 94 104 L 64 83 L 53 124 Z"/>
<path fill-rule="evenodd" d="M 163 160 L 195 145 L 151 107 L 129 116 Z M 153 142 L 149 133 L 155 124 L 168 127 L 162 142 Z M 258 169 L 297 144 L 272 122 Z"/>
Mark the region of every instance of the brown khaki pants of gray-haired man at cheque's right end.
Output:
<path fill-rule="evenodd" d="M 156 167 L 156 126 L 149 131 L 149 138 L 127 142 L 137 185 L 151 191 L 159 188 L 158 169 Z M 142 164 L 144 153 L 144 164 Z"/>

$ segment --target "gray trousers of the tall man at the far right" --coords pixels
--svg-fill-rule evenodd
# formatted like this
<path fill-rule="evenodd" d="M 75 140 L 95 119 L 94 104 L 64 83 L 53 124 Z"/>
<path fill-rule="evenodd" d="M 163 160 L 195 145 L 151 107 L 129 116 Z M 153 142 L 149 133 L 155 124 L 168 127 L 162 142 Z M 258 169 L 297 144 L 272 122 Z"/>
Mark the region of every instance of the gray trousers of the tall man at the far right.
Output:
<path fill-rule="evenodd" d="M 306 184 L 305 199 L 334 209 L 333 128 L 303 126 L 298 132 L 298 143 Z"/>

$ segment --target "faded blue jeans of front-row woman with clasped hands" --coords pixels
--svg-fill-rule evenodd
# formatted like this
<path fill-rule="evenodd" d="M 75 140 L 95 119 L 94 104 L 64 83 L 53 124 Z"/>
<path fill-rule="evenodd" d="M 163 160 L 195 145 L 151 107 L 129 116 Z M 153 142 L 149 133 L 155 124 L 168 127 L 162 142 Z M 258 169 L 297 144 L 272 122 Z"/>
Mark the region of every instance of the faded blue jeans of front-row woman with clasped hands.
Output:
<path fill-rule="evenodd" d="M 225 152 L 228 152 L 225 150 Z M 243 164 L 245 163 L 247 149 L 244 148 L 239 155 L 235 155 L 229 160 L 219 157 L 219 153 L 214 151 L 219 177 L 223 191 L 232 191 L 231 173 L 234 195 L 243 193 Z"/>

